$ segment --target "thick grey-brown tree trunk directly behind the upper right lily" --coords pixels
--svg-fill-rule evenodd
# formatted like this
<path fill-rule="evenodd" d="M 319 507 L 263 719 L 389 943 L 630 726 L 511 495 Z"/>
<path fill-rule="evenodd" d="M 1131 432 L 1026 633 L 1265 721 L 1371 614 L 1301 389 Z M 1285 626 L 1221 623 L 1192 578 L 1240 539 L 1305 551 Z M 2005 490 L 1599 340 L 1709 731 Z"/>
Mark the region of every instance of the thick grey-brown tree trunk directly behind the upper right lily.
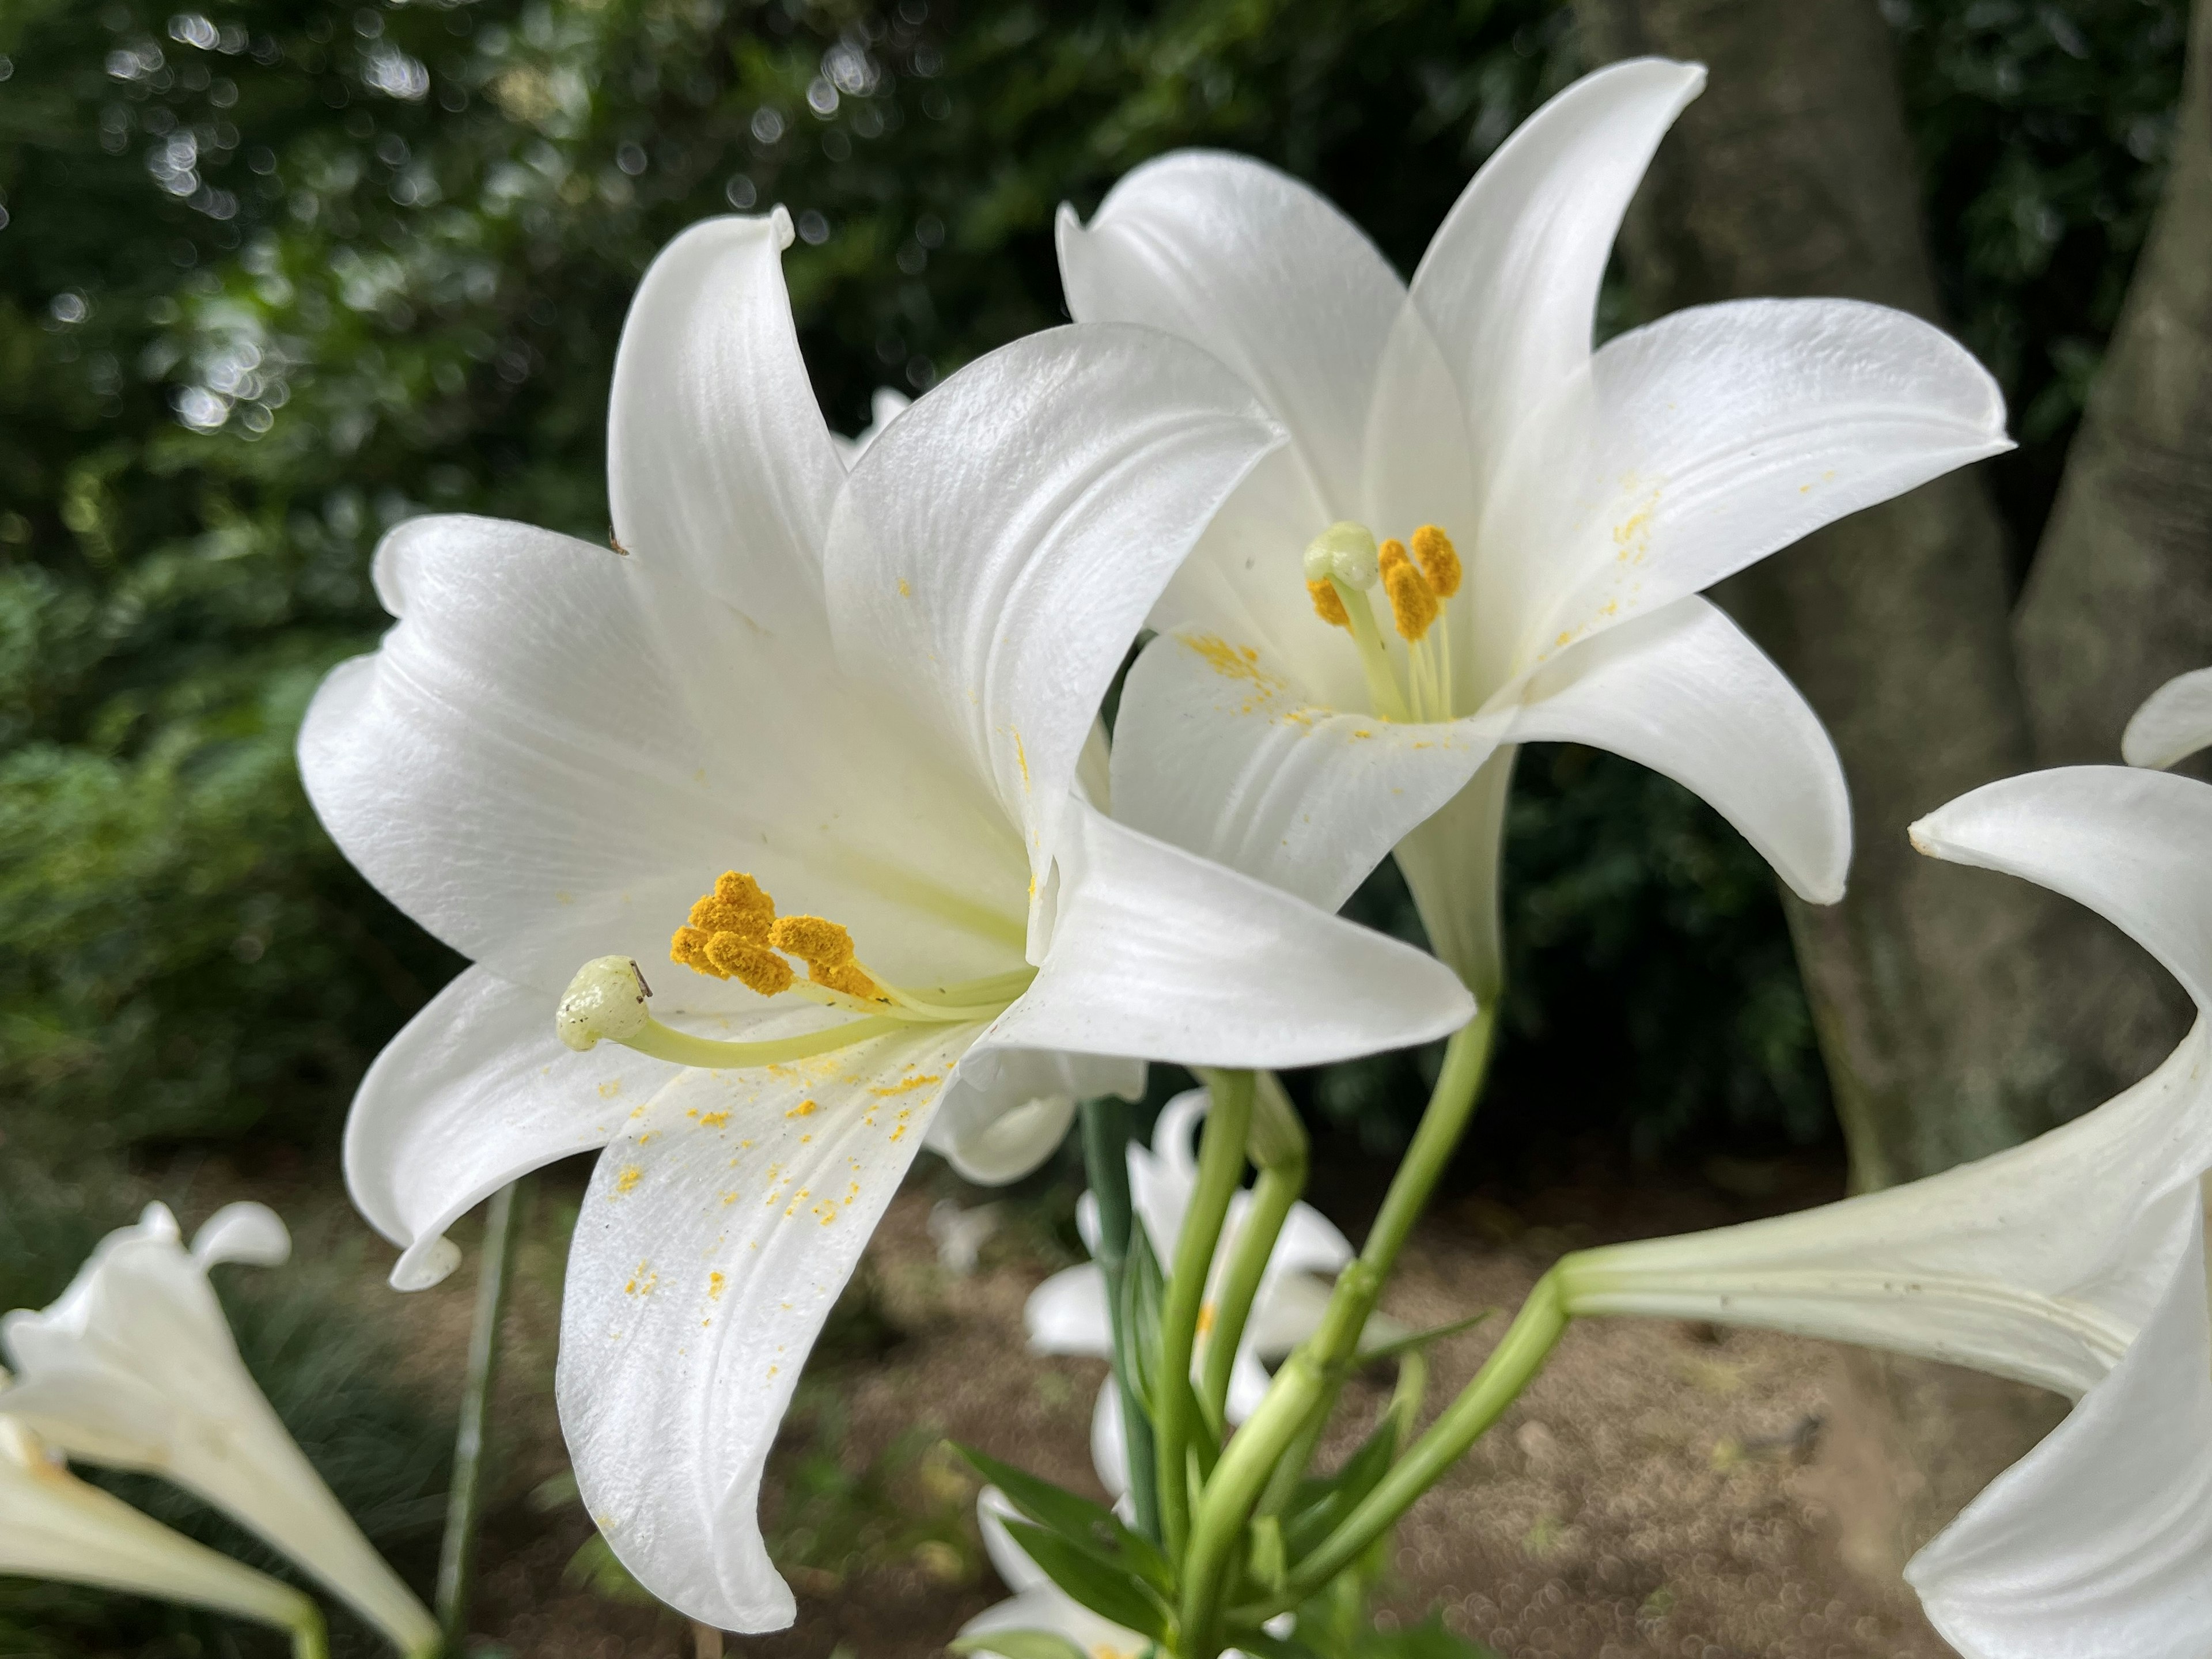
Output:
<path fill-rule="evenodd" d="M 1577 0 L 1577 15 L 1590 62 L 1661 53 L 1712 71 L 1628 219 L 1646 314 L 1834 294 L 1936 319 L 1874 0 Z M 2004 531 L 1980 480 L 1942 478 L 1858 513 L 1717 597 L 1805 690 L 1851 785 L 1849 896 L 1785 902 L 1854 1186 L 2013 1146 L 2148 1071 L 2179 1024 L 2132 945 L 2026 883 L 1922 858 L 1905 836 L 1964 790 L 2035 765 Z M 1854 1356 L 1838 1391 L 1829 1493 L 1851 1557 L 1882 1575 L 2062 1409 L 1878 1354 Z"/>

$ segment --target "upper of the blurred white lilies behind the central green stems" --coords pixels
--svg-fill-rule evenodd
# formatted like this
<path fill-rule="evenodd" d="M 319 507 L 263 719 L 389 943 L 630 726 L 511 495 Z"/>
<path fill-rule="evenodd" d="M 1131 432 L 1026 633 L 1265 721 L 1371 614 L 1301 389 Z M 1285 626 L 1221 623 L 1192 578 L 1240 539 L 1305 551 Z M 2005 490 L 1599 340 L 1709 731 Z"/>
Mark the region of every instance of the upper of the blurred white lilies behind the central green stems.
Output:
<path fill-rule="evenodd" d="M 1190 1194 L 1199 1183 L 1199 1161 L 1190 1137 L 1199 1119 L 1212 1104 L 1203 1088 L 1188 1088 L 1159 1115 L 1152 1126 L 1152 1148 L 1128 1148 L 1130 1206 L 1144 1221 L 1152 1254 L 1159 1261 L 1175 1261 L 1177 1239 L 1183 1237 L 1183 1217 L 1190 1210 Z M 1221 1245 L 1208 1276 L 1208 1298 L 1199 1310 L 1199 1347 L 1192 1356 L 1197 1376 L 1206 1356 L 1208 1327 L 1212 1325 L 1212 1292 L 1228 1272 L 1237 1237 L 1252 1210 L 1252 1192 L 1243 1188 L 1230 1199 L 1228 1221 L 1221 1228 Z M 1084 1243 L 1097 1250 L 1097 1199 L 1091 1192 L 1077 1201 L 1075 1225 Z M 1329 1303 L 1329 1281 L 1338 1267 L 1352 1261 L 1352 1245 L 1336 1225 L 1310 1203 L 1290 1206 L 1283 1230 L 1276 1234 L 1267 1267 L 1261 1272 L 1259 1292 L 1252 1296 L 1252 1314 L 1245 1321 L 1237 1358 L 1230 1369 L 1228 1416 L 1243 1422 L 1259 1409 L 1267 1394 L 1267 1367 L 1263 1360 L 1279 1360 L 1321 1325 L 1321 1314 Z M 1086 1354 L 1113 1358 L 1113 1325 L 1106 1310 L 1106 1276 L 1097 1263 L 1086 1261 L 1064 1267 L 1029 1294 L 1022 1310 L 1029 1327 L 1029 1347 L 1037 1354 Z M 1110 1420 L 1110 1422 L 1108 1422 Z M 1121 1444 L 1119 1396 L 1113 1380 L 1099 1391 L 1099 1422 L 1093 1431 L 1093 1451 L 1099 1478 L 1119 1493 L 1128 1484 L 1128 1460 L 1117 1451 Z"/>

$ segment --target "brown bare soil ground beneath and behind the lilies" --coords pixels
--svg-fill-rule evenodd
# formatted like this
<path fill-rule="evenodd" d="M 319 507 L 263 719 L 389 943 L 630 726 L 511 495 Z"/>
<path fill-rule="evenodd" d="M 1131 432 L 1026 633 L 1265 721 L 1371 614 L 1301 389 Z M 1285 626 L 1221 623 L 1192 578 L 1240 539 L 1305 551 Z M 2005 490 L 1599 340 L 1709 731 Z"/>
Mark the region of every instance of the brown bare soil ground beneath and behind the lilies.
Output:
<path fill-rule="evenodd" d="M 1387 1307 L 1418 1327 L 1478 1307 L 1509 1314 L 1566 1248 L 1796 1208 L 1832 1197 L 1832 1181 L 1818 1166 L 1781 1166 L 1747 1183 L 1728 1179 L 1734 1199 L 1694 1179 L 1668 1192 L 1599 1179 L 1513 1201 L 1462 1199 L 1422 1228 Z M 560 1254 L 577 1190 L 564 1172 L 542 1177 L 524 1214 L 478 1646 L 533 1659 L 717 1652 L 710 1632 L 633 1599 L 566 1484 L 551 1380 Z M 799 1624 L 732 1637 L 732 1652 L 922 1659 L 1004 1595 L 973 1533 L 975 1480 L 945 1438 L 1097 1491 L 1088 1422 L 1104 1367 L 1037 1358 L 1022 1343 L 1029 1290 L 1071 1261 L 1055 1201 L 1002 1203 L 978 1267 L 953 1274 L 929 1234 L 929 1210 L 947 1197 L 987 1201 L 940 1168 L 918 1170 L 832 1321 L 763 1504 L 799 1593 Z M 473 1263 L 438 1290 L 396 1296 L 380 1285 L 389 1252 L 363 1248 L 358 1221 L 327 1194 L 294 1188 L 281 1203 L 305 1221 L 307 1252 L 358 1259 L 347 1294 L 358 1294 L 365 1318 L 403 1334 L 411 1380 L 445 1409 L 458 1387 Z M 1436 1349 L 1431 1411 L 1504 1323 Z M 1389 1613 L 1418 1619 L 1440 1608 L 1451 1628 L 1509 1659 L 1949 1655 L 1909 1595 L 1838 1559 L 1834 1478 L 1820 1455 L 1834 1378 L 1836 1352 L 1820 1343 L 1677 1323 L 1577 1325 L 1400 1528 Z M 1338 1449 L 1385 1398 L 1387 1376 L 1354 1385 Z"/>

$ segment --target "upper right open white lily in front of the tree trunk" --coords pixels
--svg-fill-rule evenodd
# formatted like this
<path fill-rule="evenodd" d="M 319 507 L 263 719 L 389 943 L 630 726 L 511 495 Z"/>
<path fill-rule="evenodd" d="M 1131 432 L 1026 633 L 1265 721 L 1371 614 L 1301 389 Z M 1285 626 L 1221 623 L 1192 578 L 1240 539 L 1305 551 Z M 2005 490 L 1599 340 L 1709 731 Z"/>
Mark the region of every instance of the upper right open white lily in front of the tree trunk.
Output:
<path fill-rule="evenodd" d="M 1880 305 L 1703 305 L 1590 349 L 1621 212 L 1703 77 L 1637 60 L 1568 86 L 1482 166 L 1411 288 L 1323 197 L 1234 155 L 1161 157 L 1088 226 L 1060 215 L 1077 321 L 1197 341 L 1292 438 L 1155 611 L 1115 812 L 1332 909 L 1396 847 L 1475 995 L 1500 982 L 1522 741 L 1657 768 L 1798 894 L 1840 898 L 1834 748 L 1697 595 L 2008 447 L 1991 376 Z"/>

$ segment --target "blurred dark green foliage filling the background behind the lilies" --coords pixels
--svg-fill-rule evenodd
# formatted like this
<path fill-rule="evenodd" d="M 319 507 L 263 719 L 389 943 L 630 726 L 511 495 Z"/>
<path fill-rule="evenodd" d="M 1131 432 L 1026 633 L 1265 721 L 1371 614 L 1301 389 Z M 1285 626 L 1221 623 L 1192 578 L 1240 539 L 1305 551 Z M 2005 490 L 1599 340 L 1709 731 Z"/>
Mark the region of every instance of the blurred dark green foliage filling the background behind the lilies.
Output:
<path fill-rule="evenodd" d="M 1263 155 L 1411 268 L 1577 69 L 1544 0 L 173 4 L 0 7 L 0 1095 L 40 1157 L 327 1146 L 456 967 L 323 841 L 292 734 L 383 626 L 389 524 L 604 533 L 615 338 L 684 223 L 790 206 L 854 429 L 878 383 L 1057 321 L 1055 204 L 1148 155 Z M 1893 4 L 1953 303 L 2057 445 L 2154 188 L 2179 4 Z M 1820 1133 L 1756 858 L 1635 768 L 1522 776 L 1500 1091 L 1646 1144 Z M 1316 1099 L 1387 1146 L 1418 1066 Z"/>

